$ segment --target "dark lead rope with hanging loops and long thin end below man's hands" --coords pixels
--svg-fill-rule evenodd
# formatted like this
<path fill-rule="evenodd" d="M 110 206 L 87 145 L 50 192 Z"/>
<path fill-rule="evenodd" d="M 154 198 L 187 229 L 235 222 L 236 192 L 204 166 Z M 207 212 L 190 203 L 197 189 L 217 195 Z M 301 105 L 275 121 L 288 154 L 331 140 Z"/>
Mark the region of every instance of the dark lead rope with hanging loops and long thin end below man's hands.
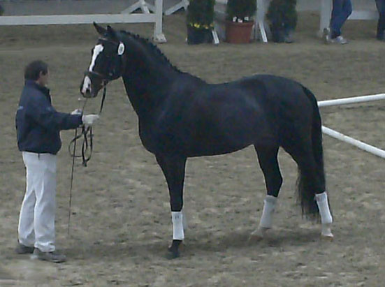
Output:
<path fill-rule="evenodd" d="M 99 110 L 99 115 L 101 115 L 101 111 L 103 110 L 103 105 L 104 105 L 104 100 L 106 99 L 106 85 L 104 86 L 103 89 L 103 98 L 101 99 L 101 107 Z M 80 98 L 79 98 L 80 101 Z M 85 105 L 87 103 L 87 98 L 85 99 L 85 103 L 83 104 L 82 111 L 85 109 Z M 88 145 L 88 139 L 87 139 L 87 134 L 89 133 L 89 145 Z M 70 228 L 70 223 L 71 223 L 71 202 L 72 202 L 72 187 L 73 187 L 73 170 L 75 167 L 75 158 L 80 157 L 76 155 L 76 140 L 84 136 L 83 138 L 83 143 L 82 143 L 82 165 L 87 166 L 87 162 L 91 159 L 92 156 L 92 127 L 88 126 L 85 128 L 85 126 L 82 126 L 82 133 L 78 135 L 78 128 L 75 128 L 75 136 L 71 140 L 71 142 L 68 145 L 68 152 L 70 153 L 72 157 L 72 167 L 71 167 L 71 184 L 70 184 L 70 190 L 69 190 L 69 206 L 68 206 L 68 224 L 67 224 L 67 234 L 69 235 L 69 228 Z M 71 145 L 73 143 L 73 153 L 71 152 Z M 89 156 L 86 158 L 85 154 L 87 153 L 88 147 L 90 149 Z"/>

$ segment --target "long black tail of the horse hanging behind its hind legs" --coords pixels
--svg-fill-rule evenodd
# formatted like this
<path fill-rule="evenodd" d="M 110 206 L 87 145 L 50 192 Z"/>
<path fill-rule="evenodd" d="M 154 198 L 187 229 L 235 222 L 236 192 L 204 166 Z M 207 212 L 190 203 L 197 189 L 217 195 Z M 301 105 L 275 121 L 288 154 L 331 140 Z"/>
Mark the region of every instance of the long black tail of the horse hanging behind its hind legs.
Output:
<path fill-rule="evenodd" d="M 325 190 L 325 172 L 324 172 L 324 151 L 322 148 L 322 124 L 321 115 L 317 99 L 312 91 L 303 87 L 306 96 L 312 102 L 312 152 L 315 162 L 315 170 L 313 172 L 304 172 L 299 170 L 298 177 L 298 196 L 302 212 L 310 219 L 319 219 L 319 209 L 315 200 L 316 191 L 322 192 Z M 322 191 L 321 191 L 322 190 Z"/>

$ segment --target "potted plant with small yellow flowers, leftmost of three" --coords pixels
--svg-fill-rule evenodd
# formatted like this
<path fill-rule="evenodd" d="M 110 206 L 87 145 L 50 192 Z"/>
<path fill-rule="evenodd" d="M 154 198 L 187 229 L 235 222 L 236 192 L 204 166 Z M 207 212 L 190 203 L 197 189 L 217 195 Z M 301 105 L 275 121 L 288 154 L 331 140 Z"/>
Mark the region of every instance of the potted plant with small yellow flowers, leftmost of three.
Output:
<path fill-rule="evenodd" d="M 215 0 L 190 0 L 187 8 L 187 43 L 212 43 Z"/>

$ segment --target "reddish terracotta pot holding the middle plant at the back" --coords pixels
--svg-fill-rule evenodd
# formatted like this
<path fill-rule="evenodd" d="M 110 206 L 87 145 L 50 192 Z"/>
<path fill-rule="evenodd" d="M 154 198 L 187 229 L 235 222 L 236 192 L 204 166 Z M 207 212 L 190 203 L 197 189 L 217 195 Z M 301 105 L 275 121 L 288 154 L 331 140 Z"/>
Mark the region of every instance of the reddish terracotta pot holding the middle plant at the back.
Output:
<path fill-rule="evenodd" d="M 233 44 L 250 43 L 254 22 L 226 21 L 226 42 Z"/>

